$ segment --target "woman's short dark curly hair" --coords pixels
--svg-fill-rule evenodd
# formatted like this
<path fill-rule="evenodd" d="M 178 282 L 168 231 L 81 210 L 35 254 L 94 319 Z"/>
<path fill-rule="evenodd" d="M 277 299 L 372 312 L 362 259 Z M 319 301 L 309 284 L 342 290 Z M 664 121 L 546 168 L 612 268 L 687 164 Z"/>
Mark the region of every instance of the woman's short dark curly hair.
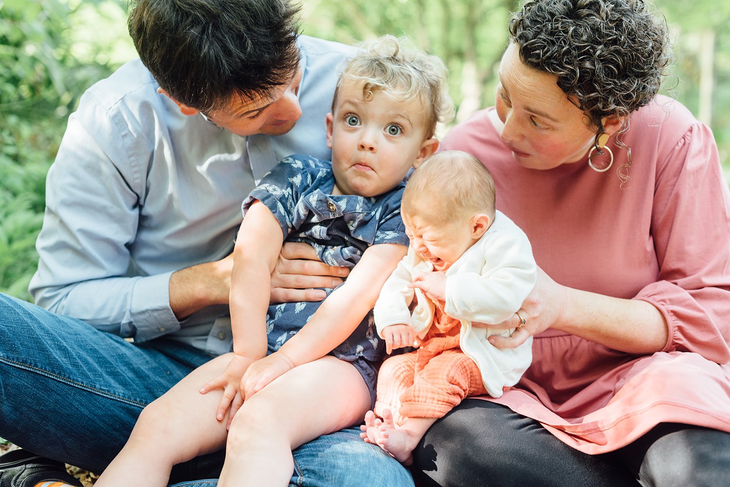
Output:
<path fill-rule="evenodd" d="M 557 75 L 596 141 L 604 117 L 653 99 L 672 61 L 666 20 L 642 0 L 529 1 L 512 15 L 510 37 L 524 64 Z"/>

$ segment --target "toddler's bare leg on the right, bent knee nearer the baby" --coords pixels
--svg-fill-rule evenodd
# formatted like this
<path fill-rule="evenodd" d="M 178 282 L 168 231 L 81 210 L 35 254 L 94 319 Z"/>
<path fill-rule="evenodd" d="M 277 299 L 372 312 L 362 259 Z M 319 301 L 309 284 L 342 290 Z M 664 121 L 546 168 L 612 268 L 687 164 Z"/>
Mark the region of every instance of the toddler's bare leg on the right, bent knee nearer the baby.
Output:
<path fill-rule="evenodd" d="M 369 406 L 362 376 L 346 361 L 326 356 L 291 369 L 234 417 L 218 486 L 288 486 L 291 450 L 353 425 Z"/>

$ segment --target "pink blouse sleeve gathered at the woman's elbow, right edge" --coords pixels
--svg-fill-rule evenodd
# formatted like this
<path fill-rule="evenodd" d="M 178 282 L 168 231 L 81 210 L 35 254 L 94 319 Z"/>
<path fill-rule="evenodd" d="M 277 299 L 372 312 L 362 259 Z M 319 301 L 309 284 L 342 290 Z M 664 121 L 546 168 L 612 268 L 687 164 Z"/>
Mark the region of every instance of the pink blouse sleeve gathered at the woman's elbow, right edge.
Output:
<path fill-rule="evenodd" d="M 691 126 L 658 164 L 653 202 L 659 279 L 636 299 L 666 318 L 664 351 L 730 361 L 730 194 L 706 126 Z"/>

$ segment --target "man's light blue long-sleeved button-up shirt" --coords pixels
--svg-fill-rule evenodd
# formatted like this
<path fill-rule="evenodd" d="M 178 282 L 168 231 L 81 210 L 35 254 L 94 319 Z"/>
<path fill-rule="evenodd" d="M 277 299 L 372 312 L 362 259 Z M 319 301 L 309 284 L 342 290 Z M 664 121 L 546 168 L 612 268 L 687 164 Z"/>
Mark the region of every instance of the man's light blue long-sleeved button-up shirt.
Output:
<path fill-rule="evenodd" d="M 37 304 L 137 342 L 169 335 L 213 355 L 230 350 L 228 307 L 178 321 L 169 278 L 231 252 L 242 200 L 277 161 L 330 158 L 325 115 L 354 49 L 304 36 L 299 44 L 302 116 L 277 137 L 240 137 L 183 115 L 139 60 L 89 88 L 47 176 L 30 285 Z"/>

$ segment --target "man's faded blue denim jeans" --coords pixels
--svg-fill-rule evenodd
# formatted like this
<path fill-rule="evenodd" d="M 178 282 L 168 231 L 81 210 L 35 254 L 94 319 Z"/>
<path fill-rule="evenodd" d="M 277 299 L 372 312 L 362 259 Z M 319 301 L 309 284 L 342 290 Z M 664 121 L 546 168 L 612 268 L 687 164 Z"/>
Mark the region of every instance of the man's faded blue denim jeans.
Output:
<path fill-rule="evenodd" d="M 0 437 L 102 472 L 142 408 L 210 358 L 173 340 L 132 344 L 0 294 Z M 295 450 L 291 486 L 413 486 L 401 464 L 358 433 L 343 429 Z M 172 478 L 217 475 L 222 458 L 220 453 L 180 465 Z"/>

